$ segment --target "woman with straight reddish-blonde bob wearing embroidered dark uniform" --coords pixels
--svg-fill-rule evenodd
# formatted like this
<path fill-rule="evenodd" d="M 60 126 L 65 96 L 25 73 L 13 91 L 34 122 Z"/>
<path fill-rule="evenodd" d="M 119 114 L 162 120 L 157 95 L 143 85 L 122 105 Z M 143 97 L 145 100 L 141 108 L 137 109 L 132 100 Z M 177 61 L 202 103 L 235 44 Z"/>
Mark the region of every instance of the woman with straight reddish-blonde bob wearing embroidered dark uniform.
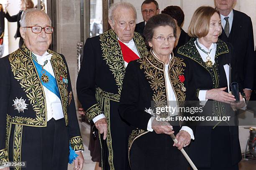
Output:
<path fill-rule="evenodd" d="M 192 16 L 188 30 L 193 38 L 178 50 L 177 57 L 184 59 L 190 68 L 185 77 L 194 85 L 187 88 L 187 94 L 192 95 L 188 97 L 200 100 L 200 104 L 204 105 L 203 116 L 232 117 L 236 114 L 231 107 L 244 106 L 241 94 L 240 102 L 235 104 L 235 96 L 228 93 L 229 76 L 226 76 L 224 67 L 231 66 L 231 82 L 239 84 L 236 77 L 238 64 L 230 44 L 218 39 L 221 31 L 220 13 L 212 7 L 199 7 Z M 237 122 L 236 117 L 232 121 Z M 238 170 L 241 149 L 238 126 L 234 122 L 217 121 L 212 122 L 212 126 L 196 127 L 195 141 L 191 142 L 189 153 L 197 168 Z"/>

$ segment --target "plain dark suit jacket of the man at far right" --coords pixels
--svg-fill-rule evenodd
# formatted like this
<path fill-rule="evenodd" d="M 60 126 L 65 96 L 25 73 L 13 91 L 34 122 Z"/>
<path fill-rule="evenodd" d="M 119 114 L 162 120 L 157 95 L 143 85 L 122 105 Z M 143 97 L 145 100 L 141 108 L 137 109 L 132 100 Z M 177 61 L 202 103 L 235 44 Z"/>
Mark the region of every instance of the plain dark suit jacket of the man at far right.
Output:
<path fill-rule="evenodd" d="M 238 75 L 240 76 L 243 89 L 253 89 L 254 79 L 254 41 L 251 18 L 245 13 L 233 10 L 234 18 L 229 37 L 224 30 L 220 39 L 232 44 L 237 63 Z"/>

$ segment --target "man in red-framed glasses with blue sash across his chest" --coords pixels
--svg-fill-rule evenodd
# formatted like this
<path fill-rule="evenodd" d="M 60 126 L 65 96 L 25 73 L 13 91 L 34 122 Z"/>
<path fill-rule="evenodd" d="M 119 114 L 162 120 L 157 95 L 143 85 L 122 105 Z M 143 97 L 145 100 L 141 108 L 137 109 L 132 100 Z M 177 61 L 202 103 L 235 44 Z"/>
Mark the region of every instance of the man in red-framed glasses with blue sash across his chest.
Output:
<path fill-rule="evenodd" d="M 20 25 L 24 44 L 0 59 L 0 167 L 67 170 L 74 160 L 74 169 L 82 170 L 84 148 L 67 62 L 48 49 L 51 20 L 29 9 Z"/>

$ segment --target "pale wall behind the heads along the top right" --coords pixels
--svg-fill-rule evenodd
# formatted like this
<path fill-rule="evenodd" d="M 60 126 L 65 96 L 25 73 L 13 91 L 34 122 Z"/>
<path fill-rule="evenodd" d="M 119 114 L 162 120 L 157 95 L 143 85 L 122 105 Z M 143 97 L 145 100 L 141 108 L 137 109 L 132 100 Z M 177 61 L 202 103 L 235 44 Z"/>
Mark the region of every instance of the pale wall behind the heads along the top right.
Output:
<path fill-rule="evenodd" d="M 143 21 L 141 15 L 141 4 L 144 0 L 114 0 L 114 2 L 129 2 L 134 5 L 137 10 L 138 20 L 137 23 Z M 182 8 L 185 14 L 185 20 L 183 29 L 187 32 L 188 25 L 192 18 L 195 10 L 202 6 L 208 5 L 214 7 L 214 0 L 156 0 L 159 3 L 160 13 L 166 6 L 177 5 Z M 251 17 L 253 23 L 253 33 L 254 33 L 254 44 L 256 45 L 256 0 L 237 0 L 235 6 L 236 10 L 246 13 Z"/>

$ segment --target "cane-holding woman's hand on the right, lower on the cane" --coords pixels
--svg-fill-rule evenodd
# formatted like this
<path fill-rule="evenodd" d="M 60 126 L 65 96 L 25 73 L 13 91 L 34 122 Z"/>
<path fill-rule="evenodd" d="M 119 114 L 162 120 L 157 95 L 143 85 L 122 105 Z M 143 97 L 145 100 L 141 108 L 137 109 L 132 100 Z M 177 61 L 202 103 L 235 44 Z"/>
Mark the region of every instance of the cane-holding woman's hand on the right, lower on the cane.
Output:
<path fill-rule="evenodd" d="M 177 139 L 178 143 L 177 144 L 174 143 L 173 146 L 178 147 L 179 150 L 181 150 L 183 147 L 188 146 L 191 141 L 190 134 L 185 130 L 181 130 L 176 135 L 176 139 Z"/>

